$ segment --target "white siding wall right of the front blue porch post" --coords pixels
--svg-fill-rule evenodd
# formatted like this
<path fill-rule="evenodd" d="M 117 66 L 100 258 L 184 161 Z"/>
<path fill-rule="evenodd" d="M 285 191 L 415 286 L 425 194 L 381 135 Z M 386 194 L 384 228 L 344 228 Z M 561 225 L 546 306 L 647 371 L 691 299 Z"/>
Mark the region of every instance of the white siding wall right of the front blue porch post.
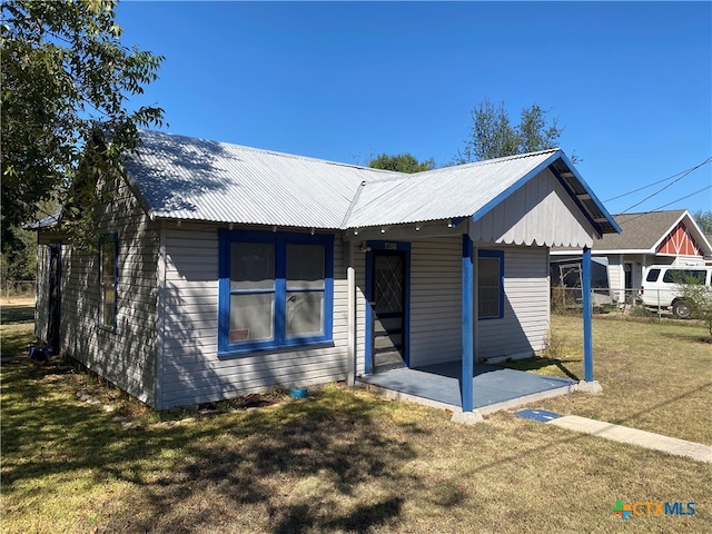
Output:
<path fill-rule="evenodd" d="M 496 250 L 487 244 L 479 248 Z M 546 345 L 550 326 L 545 247 L 504 247 L 504 317 L 483 319 L 475 339 L 478 358 L 532 356 Z"/>

